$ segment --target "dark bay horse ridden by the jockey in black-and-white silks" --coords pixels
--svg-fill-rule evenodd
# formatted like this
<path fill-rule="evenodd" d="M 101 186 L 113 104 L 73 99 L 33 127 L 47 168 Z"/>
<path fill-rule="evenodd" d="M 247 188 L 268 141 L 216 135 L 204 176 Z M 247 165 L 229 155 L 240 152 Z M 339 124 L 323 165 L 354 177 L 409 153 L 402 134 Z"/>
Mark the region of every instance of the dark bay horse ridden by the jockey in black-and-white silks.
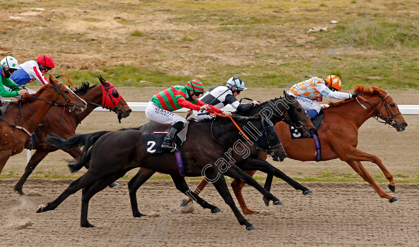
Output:
<path fill-rule="evenodd" d="M 284 98 L 276 98 L 273 100 L 263 102 L 259 105 L 255 105 L 252 109 L 246 112 L 235 113 L 240 116 L 247 117 L 259 113 L 267 113 L 269 120 L 273 124 L 283 121 L 285 124 L 292 125 L 296 129 L 301 129 L 301 133 L 305 137 L 311 136 L 315 129 L 311 121 L 306 117 L 307 115 L 305 114 L 301 105 L 295 100 L 295 98 L 292 95 L 284 94 L 284 96 Z M 167 130 L 167 128 L 167 125 L 149 122 L 141 126 L 139 129 L 142 131 L 164 131 Z M 262 158 L 260 156 L 260 149 L 257 149 L 254 146 L 247 146 L 247 148 L 248 150 L 250 150 L 250 154 L 246 158 L 243 158 L 242 155 L 232 155 L 232 160 L 234 161 L 233 163 L 240 169 L 242 169 L 243 171 L 253 171 L 256 169 L 265 173 L 271 173 L 275 177 L 283 179 L 296 190 L 301 190 L 303 195 L 312 194 L 312 192 L 308 188 L 302 186 L 298 182 L 288 177 L 285 173 L 269 164 L 265 160 L 266 152 L 263 152 L 265 156 Z M 282 161 L 284 158 L 285 157 L 281 158 L 280 161 Z M 128 187 L 130 189 L 131 206 L 134 217 L 136 217 L 136 215 L 139 214 L 137 209 L 136 192 L 138 188 L 145 181 L 147 181 L 154 173 L 155 171 L 153 170 L 140 168 L 135 177 L 131 179 L 131 181 L 128 183 Z M 194 193 L 199 194 L 208 183 L 208 180 L 203 179 L 201 183 L 197 186 L 197 190 L 195 190 Z M 185 203 L 189 204 L 191 202 L 192 199 L 189 198 Z M 244 214 L 251 214 L 256 212 L 257 211 L 250 209 L 248 211 L 243 211 Z"/>

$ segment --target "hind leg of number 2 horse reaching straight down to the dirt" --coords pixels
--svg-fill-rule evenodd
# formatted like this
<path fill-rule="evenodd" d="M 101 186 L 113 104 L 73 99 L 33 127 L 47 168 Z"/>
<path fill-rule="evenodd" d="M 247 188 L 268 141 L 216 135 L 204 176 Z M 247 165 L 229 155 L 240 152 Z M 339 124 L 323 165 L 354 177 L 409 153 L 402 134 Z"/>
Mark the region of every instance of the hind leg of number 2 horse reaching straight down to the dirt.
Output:
<path fill-rule="evenodd" d="M 115 181 L 116 179 L 124 176 L 126 173 L 126 170 L 122 170 L 119 172 L 112 173 L 108 176 L 102 177 L 101 179 L 94 182 L 92 185 L 85 187 L 82 190 L 82 196 L 81 196 L 81 215 L 80 215 L 80 226 L 91 228 L 95 227 L 92 224 L 89 223 L 87 220 L 87 211 L 89 209 L 89 201 L 90 199 L 99 191 L 106 188 L 106 186 L 109 185 L 112 181 Z"/>

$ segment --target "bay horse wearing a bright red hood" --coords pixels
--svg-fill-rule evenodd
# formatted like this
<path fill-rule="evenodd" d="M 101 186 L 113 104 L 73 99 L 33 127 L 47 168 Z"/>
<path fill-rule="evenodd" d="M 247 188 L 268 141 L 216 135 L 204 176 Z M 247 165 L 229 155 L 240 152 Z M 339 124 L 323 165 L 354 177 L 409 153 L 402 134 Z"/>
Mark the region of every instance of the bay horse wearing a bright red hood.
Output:
<path fill-rule="evenodd" d="M 45 118 L 35 129 L 36 138 L 34 138 L 35 152 L 30 157 L 26 165 L 25 172 L 14 186 L 14 190 L 24 195 L 22 186 L 35 167 L 50 152 L 58 150 L 56 146 L 46 141 L 48 133 L 55 133 L 64 139 L 73 136 L 76 133 L 78 124 L 81 123 L 96 107 L 103 107 L 117 114 L 118 120 L 130 115 L 131 109 L 123 98 L 119 102 L 114 102 L 110 95 L 118 94 L 118 90 L 109 84 L 106 80 L 99 77 L 100 84 L 89 87 L 89 83 L 83 82 L 80 87 L 76 87 L 74 93 L 87 102 L 87 108 L 81 114 L 75 112 L 63 111 L 61 108 L 53 107 L 46 114 Z M 116 92 L 114 92 L 116 90 Z M 115 97 L 118 98 L 118 97 Z M 108 101 L 108 103 L 106 103 Z M 104 106 L 107 105 L 107 106 Z M 109 106 L 109 107 L 108 107 Z M 25 146 L 26 147 L 26 146 Z M 80 148 L 61 149 L 70 154 L 73 158 L 80 155 Z"/>

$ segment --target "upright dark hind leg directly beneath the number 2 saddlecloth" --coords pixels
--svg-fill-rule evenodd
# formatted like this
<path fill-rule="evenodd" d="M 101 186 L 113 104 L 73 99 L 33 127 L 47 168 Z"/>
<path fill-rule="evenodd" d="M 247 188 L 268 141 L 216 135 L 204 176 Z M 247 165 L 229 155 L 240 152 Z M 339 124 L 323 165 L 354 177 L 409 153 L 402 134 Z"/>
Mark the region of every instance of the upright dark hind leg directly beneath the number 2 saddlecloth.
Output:
<path fill-rule="evenodd" d="M 135 174 L 135 176 L 133 178 L 131 178 L 131 180 L 128 182 L 128 190 L 130 192 L 132 215 L 134 217 L 146 216 L 146 215 L 141 214 L 140 211 L 138 211 L 137 190 L 154 173 L 156 173 L 156 172 L 152 171 L 152 170 L 149 170 L 149 169 L 146 169 L 146 168 L 140 168 L 140 170 L 138 170 L 137 174 Z"/>

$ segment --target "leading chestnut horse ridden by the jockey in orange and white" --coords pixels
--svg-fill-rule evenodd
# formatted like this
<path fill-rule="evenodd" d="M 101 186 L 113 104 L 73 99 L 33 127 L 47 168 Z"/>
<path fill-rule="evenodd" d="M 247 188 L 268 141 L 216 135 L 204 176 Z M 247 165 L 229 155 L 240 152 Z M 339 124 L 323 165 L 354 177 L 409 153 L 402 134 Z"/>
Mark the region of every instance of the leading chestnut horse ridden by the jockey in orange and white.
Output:
<path fill-rule="evenodd" d="M 392 192 L 395 191 L 396 184 L 393 176 L 384 166 L 381 159 L 376 155 L 363 152 L 357 148 L 358 129 L 365 121 L 372 117 L 376 118 L 377 121 L 380 118 L 384 121 L 382 123 L 390 124 L 397 131 L 404 131 L 408 124 L 401 115 L 396 102 L 386 91 L 375 86 L 371 86 L 371 88 L 357 85 L 354 90 L 354 92 L 358 93 L 368 102 L 365 102 L 359 97 L 359 103 L 356 99 L 350 99 L 330 103 L 330 106 L 324 109 L 323 123 L 320 124 L 317 130 L 322 148 L 321 160 L 339 158 L 345 161 L 374 188 L 380 197 L 388 199 L 390 203 L 394 203 L 399 201 L 399 199 L 380 188 L 361 164 L 361 161 L 370 161 L 377 164 L 389 180 L 389 189 Z M 367 109 L 364 110 L 360 104 L 364 105 Z M 278 131 L 278 135 L 283 142 L 289 158 L 300 161 L 315 160 L 316 147 L 313 139 L 291 139 L 288 125 L 284 123 L 276 124 L 275 128 Z M 252 171 L 248 174 L 253 176 L 254 173 L 255 171 Z M 267 189 L 270 188 L 270 183 L 272 182 L 269 177 L 265 184 L 265 188 Z M 241 188 L 244 184 L 238 180 L 234 180 L 231 185 L 240 206 L 245 206 L 243 196 L 241 195 Z M 248 209 L 247 207 L 242 207 L 242 210 Z"/>

